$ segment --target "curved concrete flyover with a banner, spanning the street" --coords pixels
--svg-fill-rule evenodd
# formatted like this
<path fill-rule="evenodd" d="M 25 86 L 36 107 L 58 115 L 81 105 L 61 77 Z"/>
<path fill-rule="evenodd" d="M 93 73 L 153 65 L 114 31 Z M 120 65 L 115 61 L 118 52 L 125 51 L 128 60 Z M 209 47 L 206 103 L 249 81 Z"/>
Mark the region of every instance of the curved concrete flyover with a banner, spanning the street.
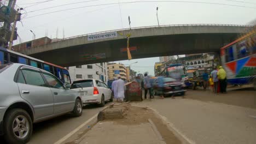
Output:
<path fill-rule="evenodd" d="M 127 34 L 131 35 L 132 58 L 146 58 L 218 52 L 220 47 L 250 28 L 251 26 L 245 25 L 213 24 L 136 27 L 57 40 L 47 38 L 41 44 L 28 41 L 30 48 L 26 48 L 29 46 L 26 43 L 16 45 L 14 49 L 25 55 L 67 67 L 127 59 Z"/>

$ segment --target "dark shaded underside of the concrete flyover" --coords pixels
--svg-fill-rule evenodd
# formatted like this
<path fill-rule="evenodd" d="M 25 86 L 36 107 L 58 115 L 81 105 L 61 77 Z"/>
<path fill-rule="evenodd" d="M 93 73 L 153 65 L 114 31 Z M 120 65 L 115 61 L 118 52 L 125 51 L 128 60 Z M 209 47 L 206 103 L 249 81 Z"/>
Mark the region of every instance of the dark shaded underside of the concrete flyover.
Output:
<path fill-rule="evenodd" d="M 237 38 L 238 33 L 176 34 L 157 37 L 131 38 L 133 59 L 219 52 L 220 47 Z M 74 65 L 127 59 L 126 39 L 65 47 L 30 55 L 50 63 L 70 67 Z"/>

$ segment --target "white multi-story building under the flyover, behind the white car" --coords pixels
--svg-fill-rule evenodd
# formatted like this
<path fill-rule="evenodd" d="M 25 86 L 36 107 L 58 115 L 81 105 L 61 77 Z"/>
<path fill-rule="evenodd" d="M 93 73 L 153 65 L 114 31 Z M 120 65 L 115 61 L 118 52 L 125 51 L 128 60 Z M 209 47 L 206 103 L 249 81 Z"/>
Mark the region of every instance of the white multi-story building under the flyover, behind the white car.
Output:
<path fill-rule="evenodd" d="M 96 79 L 104 82 L 108 81 L 107 63 L 77 65 L 68 67 L 67 69 L 72 81 L 83 79 Z"/>

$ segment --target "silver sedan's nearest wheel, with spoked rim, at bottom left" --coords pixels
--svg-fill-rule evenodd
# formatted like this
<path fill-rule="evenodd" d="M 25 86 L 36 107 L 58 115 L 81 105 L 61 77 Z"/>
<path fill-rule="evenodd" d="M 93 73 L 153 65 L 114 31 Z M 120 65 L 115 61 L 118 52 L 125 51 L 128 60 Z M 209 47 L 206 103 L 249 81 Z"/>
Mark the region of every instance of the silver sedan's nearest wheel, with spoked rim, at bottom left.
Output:
<path fill-rule="evenodd" d="M 32 135 L 33 125 L 25 110 L 13 109 L 4 118 L 4 138 L 7 143 L 27 143 Z"/>

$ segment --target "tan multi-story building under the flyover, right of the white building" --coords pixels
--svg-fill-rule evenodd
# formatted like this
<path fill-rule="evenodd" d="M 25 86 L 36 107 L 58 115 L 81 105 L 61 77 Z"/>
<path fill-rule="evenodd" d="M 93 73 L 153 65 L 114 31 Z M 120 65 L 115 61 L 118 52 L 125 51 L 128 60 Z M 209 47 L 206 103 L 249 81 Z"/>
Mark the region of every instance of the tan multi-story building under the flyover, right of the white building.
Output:
<path fill-rule="evenodd" d="M 126 67 L 119 63 L 108 63 L 108 79 L 114 80 L 118 76 L 121 76 L 123 80 L 127 80 Z"/>

